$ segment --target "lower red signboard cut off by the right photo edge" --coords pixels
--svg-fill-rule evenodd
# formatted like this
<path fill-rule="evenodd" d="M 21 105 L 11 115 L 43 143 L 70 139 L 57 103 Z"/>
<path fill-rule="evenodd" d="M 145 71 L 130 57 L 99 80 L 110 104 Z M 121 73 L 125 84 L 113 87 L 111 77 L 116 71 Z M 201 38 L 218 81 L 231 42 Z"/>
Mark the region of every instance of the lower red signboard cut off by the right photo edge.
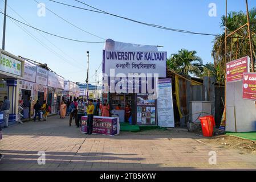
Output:
<path fill-rule="evenodd" d="M 256 73 L 243 73 L 243 99 L 256 100 Z"/>

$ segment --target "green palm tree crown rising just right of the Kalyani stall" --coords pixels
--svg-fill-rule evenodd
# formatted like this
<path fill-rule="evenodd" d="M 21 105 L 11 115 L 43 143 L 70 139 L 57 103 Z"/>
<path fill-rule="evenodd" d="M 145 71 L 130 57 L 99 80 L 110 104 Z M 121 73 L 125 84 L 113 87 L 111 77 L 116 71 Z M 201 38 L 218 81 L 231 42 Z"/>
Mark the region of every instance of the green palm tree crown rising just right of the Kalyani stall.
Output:
<path fill-rule="evenodd" d="M 181 75 L 200 76 L 204 69 L 201 57 L 196 51 L 181 49 L 167 60 L 167 66 Z"/>

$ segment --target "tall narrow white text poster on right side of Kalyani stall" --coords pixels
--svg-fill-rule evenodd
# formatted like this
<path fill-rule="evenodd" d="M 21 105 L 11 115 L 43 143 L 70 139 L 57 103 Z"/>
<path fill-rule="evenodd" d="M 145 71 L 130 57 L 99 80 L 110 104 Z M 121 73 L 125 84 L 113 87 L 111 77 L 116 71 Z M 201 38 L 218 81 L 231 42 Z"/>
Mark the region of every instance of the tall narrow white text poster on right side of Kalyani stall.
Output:
<path fill-rule="evenodd" d="M 174 127 L 171 78 L 159 79 L 159 97 L 157 98 L 158 123 L 161 127 Z"/>

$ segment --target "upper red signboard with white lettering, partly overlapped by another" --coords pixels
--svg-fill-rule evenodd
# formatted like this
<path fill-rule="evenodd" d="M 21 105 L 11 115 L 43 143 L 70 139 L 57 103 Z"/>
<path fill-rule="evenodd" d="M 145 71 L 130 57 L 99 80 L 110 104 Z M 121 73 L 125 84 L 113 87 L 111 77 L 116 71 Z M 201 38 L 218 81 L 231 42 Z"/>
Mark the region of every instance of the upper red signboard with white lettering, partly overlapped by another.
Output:
<path fill-rule="evenodd" d="M 243 73 L 250 72 L 250 57 L 242 57 L 226 64 L 227 82 L 239 81 Z"/>

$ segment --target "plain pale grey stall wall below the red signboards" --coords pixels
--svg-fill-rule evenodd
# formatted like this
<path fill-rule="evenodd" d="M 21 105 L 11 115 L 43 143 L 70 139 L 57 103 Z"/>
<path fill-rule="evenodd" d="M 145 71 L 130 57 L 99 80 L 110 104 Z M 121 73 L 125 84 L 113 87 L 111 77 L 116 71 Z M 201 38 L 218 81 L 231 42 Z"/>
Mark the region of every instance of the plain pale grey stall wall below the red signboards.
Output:
<path fill-rule="evenodd" d="M 236 122 L 236 125 L 235 125 Z M 226 131 L 256 131 L 256 105 L 242 99 L 242 81 L 226 84 Z"/>

